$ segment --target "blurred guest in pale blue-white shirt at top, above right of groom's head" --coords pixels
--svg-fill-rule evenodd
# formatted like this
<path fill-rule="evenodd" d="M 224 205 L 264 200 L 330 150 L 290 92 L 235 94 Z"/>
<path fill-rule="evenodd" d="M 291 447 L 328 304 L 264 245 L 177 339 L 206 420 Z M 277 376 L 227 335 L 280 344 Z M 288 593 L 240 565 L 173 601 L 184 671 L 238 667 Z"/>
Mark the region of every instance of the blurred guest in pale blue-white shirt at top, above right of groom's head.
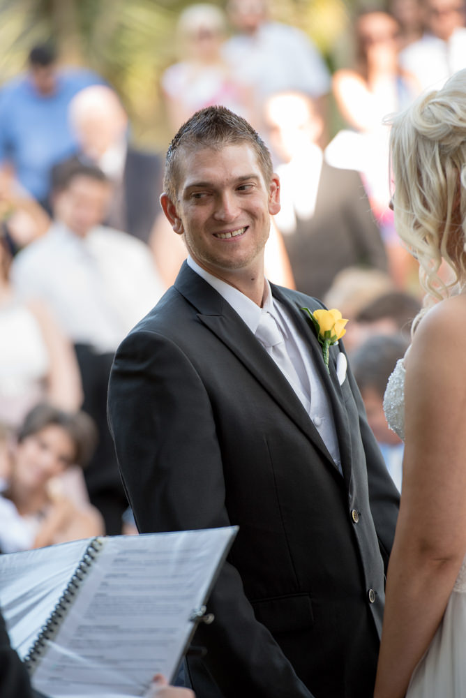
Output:
<path fill-rule="evenodd" d="M 227 12 L 236 34 L 225 43 L 225 59 L 253 87 L 258 108 L 274 92 L 299 90 L 326 114 L 330 73 L 308 36 L 272 22 L 268 0 L 229 0 Z"/>

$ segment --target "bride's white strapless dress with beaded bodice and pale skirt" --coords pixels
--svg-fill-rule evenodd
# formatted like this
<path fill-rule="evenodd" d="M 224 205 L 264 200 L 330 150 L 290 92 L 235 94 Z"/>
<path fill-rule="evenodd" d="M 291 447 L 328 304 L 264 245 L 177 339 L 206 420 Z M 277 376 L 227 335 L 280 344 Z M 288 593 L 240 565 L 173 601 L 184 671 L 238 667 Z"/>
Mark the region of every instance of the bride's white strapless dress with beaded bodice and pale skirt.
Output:
<path fill-rule="evenodd" d="M 405 367 L 400 359 L 386 387 L 384 411 L 389 426 L 403 440 L 404 386 Z M 414 670 L 406 698 L 466 698 L 466 558 L 442 623 Z"/>

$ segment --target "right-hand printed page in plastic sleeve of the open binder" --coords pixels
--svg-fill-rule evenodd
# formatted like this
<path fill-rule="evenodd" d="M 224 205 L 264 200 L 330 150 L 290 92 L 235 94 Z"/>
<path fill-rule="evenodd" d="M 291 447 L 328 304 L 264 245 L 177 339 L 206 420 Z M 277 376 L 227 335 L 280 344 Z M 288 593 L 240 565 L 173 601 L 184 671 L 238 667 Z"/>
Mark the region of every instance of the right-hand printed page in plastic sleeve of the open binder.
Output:
<path fill-rule="evenodd" d="M 158 672 L 172 679 L 236 530 L 105 538 L 33 686 L 52 698 L 133 698 Z"/>

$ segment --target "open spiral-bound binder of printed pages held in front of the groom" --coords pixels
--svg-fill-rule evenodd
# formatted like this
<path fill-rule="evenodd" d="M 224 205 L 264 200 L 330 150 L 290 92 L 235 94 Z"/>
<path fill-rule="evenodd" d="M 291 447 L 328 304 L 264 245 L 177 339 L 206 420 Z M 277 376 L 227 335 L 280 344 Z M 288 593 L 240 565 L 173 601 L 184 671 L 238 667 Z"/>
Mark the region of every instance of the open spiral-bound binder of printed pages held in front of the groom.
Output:
<path fill-rule="evenodd" d="M 237 528 L 89 538 L 0 556 L 0 607 L 33 687 L 144 696 L 173 678 Z M 32 631 L 32 632 L 31 632 Z"/>

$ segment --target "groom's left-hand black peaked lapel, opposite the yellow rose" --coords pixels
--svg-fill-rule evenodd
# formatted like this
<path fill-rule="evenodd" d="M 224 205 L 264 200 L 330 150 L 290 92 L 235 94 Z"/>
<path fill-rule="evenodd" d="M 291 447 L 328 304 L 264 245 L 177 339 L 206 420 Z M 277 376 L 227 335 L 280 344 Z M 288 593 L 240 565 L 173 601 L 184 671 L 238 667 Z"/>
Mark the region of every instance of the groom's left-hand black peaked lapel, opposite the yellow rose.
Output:
<path fill-rule="evenodd" d="M 232 306 L 209 283 L 193 272 L 186 262 L 181 267 L 174 286 L 197 309 L 200 322 L 236 355 L 296 426 L 313 441 L 326 461 L 335 468 L 319 432 L 294 389 Z M 287 299 L 285 302 L 287 306 L 290 305 Z"/>

